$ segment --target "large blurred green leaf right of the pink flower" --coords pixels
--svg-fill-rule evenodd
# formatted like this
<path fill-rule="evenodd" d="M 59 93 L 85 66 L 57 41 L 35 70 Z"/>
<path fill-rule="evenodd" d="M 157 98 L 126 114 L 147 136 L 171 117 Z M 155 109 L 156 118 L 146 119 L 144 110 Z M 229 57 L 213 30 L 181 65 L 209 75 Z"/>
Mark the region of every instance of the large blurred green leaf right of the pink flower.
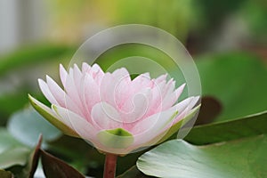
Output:
<path fill-rule="evenodd" d="M 242 117 L 267 109 L 267 67 L 251 53 L 223 53 L 197 61 L 203 95 L 218 99 L 217 120 Z"/>

